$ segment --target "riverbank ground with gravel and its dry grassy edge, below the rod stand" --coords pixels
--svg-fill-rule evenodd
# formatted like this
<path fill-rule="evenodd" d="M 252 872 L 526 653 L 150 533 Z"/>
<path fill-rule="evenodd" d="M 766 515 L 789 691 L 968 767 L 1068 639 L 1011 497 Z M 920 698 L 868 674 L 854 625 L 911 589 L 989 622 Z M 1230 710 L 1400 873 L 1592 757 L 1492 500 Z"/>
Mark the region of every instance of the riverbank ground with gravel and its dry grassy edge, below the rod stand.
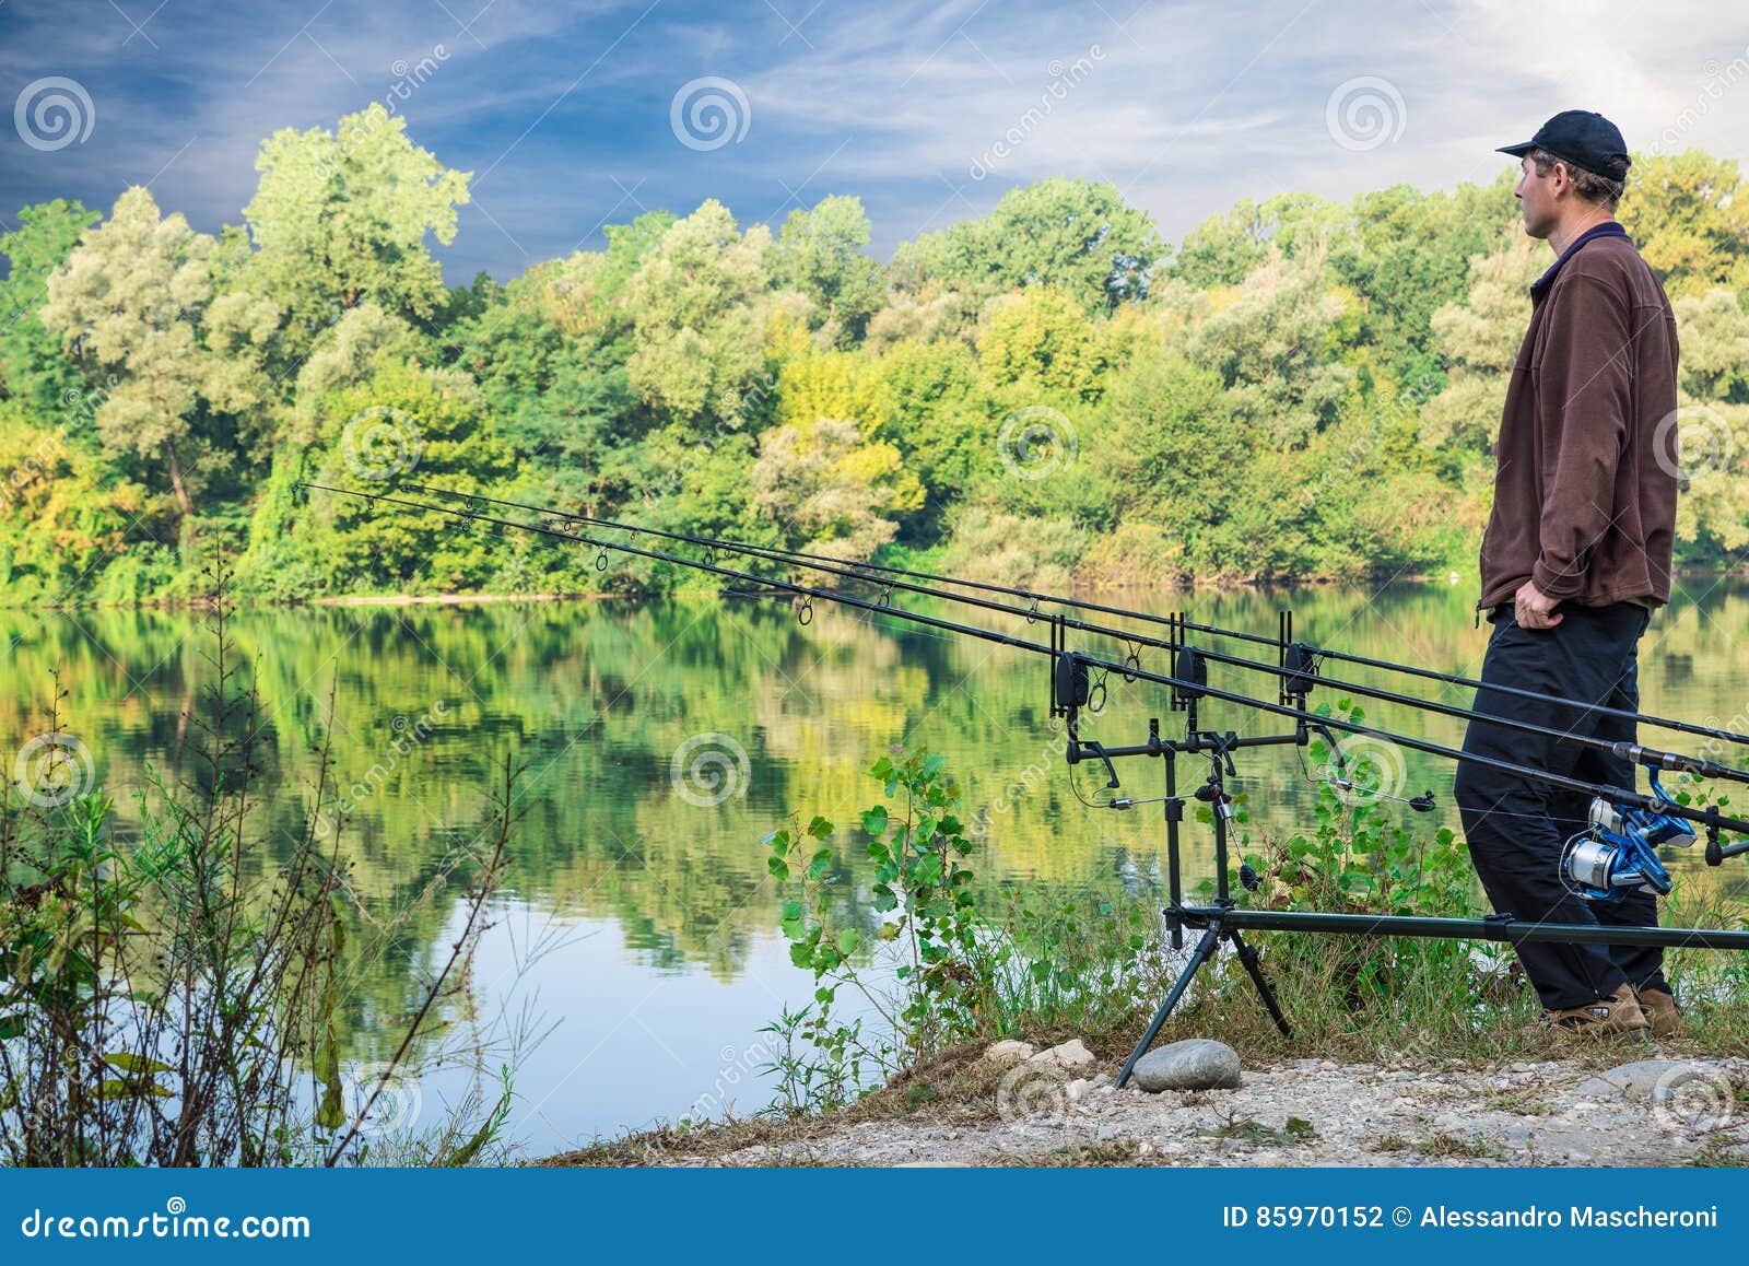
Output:
<path fill-rule="evenodd" d="M 658 1130 L 542 1165 L 1749 1166 L 1749 1058 L 1602 1044 L 1539 1060 L 1273 1060 L 1238 1089 L 1116 1089 L 967 1049 L 854 1109 Z"/>

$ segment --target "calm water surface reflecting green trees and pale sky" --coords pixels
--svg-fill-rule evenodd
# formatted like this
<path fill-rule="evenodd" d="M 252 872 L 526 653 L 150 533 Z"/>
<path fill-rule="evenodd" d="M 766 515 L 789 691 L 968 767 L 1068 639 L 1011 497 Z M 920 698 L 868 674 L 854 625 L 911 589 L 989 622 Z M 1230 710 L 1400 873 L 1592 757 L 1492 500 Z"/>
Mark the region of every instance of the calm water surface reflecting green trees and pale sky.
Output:
<path fill-rule="evenodd" d="M 1711 579 L 1690 588 L 1695 595 L 1679 595 L 1642 643 L 1644 706 L 1749 727 L 1749 588 Z M 1291 605 L 1303 638 L 1453 673 L 1473 675 L 1487 643 L 1467 588 L 1128 600 L 1259 633 L 1273 633 L 1277 609 Z M 199 612 L 0 612 L 10 647 L 0 754 L 10 757 L 49 729 L 44 706 L 58 666 L 61 726 L 89 747 L 129 829 L 131 792 L 149 771 L 189 771 L 201 692 L 217 675 L 208 623 Z M 1044 640 L 1042 626 L 1002 628 Z M 759 838 L 791 811 L 848 820 L 871 799 L 864 769 L 890 743 L 944 752 L 967 808 L 986 811 L 983 883 L 1163 887 L 1158 811 L 1093 813 L 1077 803 L 1070 776 L 1091 796 L 1102 771 L 1063 766 L 1062 740 L 1048 726 L 1046 661 L 1013 649 L 890 617 L 819 609 L 801 626 L 784 607 L 705 600 L 245 610 L 231 631 L 262 699 L 264 864 L 306 811 L 325 743 L 350 806 L 345 839 L 357 888 L 385 911 L 418 892 L 455 841 L 484 827 L 502 755 L 526 762 L 509 908 L 586 932 L 535 974 L 542 1007 L 561 1026 L 525 1070 L 526 1102 L 540 1103 L 530 1138 L 546 1130 L 540 1121 L 588 1138 L 686 1112 L 735 1063 L 724 1051 L 745 1053 L 782 1000 L 808 995 L 773 936 Z M 1163 652 L 1144 650 L 1142 663 L 1167 666 Z M 1439 691 L 1378 673 L 1354 678 Z M 1273 698 L 1273 682 L 1237 668 L 1212 666 L 1210 680 Z M 1168 733 L 1181 724 L 1158 687 L 1116 677 L 1107 685 L 1090 734 L 1135 743 L 1149 717 L 1161 717 Z M 1313 698 L 1333 696 L 1324 689 Z M 1462 689 L 1436 698 L 1469 703 Z M 1368 719 L 1436 743 L 1462 736 L 1455 719 L 1376 703 Z M 1280 727 L 1219 703 L 1203 708 L 1202 724 L 1245 734 Z M 689 787 L 689 762 L 675 762 L 701 736 L 728 752 L 719 762 L 733 783 L 724 796 L 715 794 L 722 783 Z M 1404 762 L 1408 790 L 1431 789 L 1438 815 L 1455 827 L 1450 768 L 1415 752 Z M 1303 769 L 1291 748 L 1247 752 L 1238 769 L 1235 789 L 1251 794 L 1254 832 L 1305 820 L 1317 771 Z M 1119 773 L 1126 792 L 1160 794 L 1158 764 L 1132 761 Z M 1195 825 L 1186 838 L 1196 878 L 1207 873 L 1209 843 Z M 1737 874 L 1702 878 L 1744 887 Z M 861 916 L 873 925 L 871 911 Z M 360 1058 L 381 1054 L 371 1016 L 401 1014 L 416 990 L 413 967 L 441 941 L 444 918 L 441 908 L 430 911 L 394 953 L 357 963 L 362 1002 L 352 1040 Z M 509 943 L 491 946 L 490 955 L 514 953 Z M 490 967 L 476 972 L 483 993 L 516 977 Z M 747 1110 L 759 1095 L 736 1098 Z M 542 1144 L 554 1137 L 542 1133 Z"/>

